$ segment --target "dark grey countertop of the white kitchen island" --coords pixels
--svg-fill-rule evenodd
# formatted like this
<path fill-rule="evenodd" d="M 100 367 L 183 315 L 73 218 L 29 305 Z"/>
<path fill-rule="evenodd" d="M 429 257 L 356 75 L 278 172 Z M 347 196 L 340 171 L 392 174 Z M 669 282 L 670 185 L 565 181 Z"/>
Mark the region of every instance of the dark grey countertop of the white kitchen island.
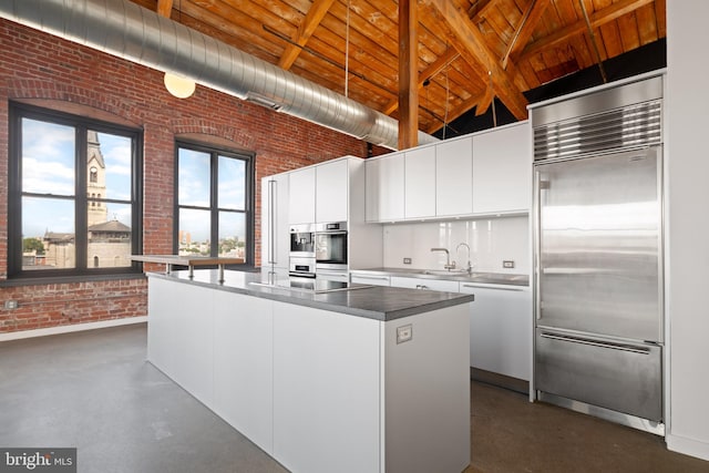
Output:
<path fill-rule="evenodd" d="M 193 278 L 189 278 L 188 271 L 182 270 L 171 274 L 148 273 L 148 276 L 381 321 L 429 312 L 474 300 L 472 295 L 456 292 L 363 285 L 354 285 L 351 290 L 316 294 L 261 286 L 260 274 L 235 270 L 224 271 L 223 284 L 218 281 L 219 275 L 216 269 L 196 269 Z"/>

